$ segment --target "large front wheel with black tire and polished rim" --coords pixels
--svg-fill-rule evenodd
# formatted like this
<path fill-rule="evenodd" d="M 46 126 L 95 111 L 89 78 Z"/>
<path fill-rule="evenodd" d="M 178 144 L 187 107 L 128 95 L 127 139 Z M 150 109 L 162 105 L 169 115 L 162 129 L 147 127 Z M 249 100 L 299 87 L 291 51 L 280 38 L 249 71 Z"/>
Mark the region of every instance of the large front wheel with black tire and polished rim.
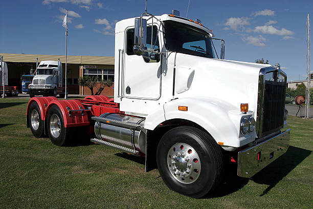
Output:
<path fill-rule="evenodd" d="M 181 149 L 182 145 L 180 144 L 185 147 L 189 146 L 187 148 L 189 150 Z M 177 151 L 174 148 L 180 150 Z M 173 152 L 177 151 L 176 154 L 185 154 L 187 157 L 180 157 L 181 161 L 177 161 L 177 157 L 173 159 L 173 156 L 169 156 L 170 153 L 173 153 L 172 150 Z M 190 150 L 193 154 L 192 152 L 188 154 Z M 192 156 L 198 156 L 199 159 Z M 193 159 L 188 161 L 187 158 Z M 171 163 L 176 161 L 176 164 L 172 165 L 169 161 Z M 224 172 L 222 151 L 215 140 L 208 133 L 187 126 L 171 129 L 163 135 L 158 145 L 157 163 L 163 181 L 171 190 L 194 198 L 200 198 L 212 192 L 220 183 Z M 184 163 L 186 163 L 187 170 L 191 168 L 188 174 L 183 168 L 186 171 L 184 172 L 186 177 L 174 174 L 175 171 L 182 174 L 183 169 L 180 166 Z M 173 171 L 175 166 L 176 170 Z"/>

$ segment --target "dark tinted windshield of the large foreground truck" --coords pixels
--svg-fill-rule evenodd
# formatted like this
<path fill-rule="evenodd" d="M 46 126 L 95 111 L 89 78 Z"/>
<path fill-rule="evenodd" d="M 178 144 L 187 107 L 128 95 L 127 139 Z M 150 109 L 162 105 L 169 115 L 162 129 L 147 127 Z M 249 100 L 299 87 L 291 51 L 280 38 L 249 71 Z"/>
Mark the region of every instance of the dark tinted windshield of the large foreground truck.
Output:
<path fill-rule="evenodd" d="M 164 21 L 164 28 L 167 50 L 215 58 L 210 35 L 207 32 L 172 20 Z"/>

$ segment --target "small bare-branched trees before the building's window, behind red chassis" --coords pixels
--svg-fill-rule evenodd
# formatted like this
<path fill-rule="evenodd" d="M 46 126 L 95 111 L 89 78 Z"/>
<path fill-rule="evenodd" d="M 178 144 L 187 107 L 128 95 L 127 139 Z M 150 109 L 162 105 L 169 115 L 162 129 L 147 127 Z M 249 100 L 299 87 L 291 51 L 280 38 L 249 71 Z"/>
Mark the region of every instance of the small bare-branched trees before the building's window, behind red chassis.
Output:
<path fill-rule="evenodd" d="M 111 79 L 98 80 L 97 77 L 85 76 L 78 78 L 78 84 L 82 87 L 88 87 L 92 95 L 100 95 L 105 87 L 111 87 L 113 85 L 113 81 Z M 95 94 L 94 88 L 97 89 Z"/>

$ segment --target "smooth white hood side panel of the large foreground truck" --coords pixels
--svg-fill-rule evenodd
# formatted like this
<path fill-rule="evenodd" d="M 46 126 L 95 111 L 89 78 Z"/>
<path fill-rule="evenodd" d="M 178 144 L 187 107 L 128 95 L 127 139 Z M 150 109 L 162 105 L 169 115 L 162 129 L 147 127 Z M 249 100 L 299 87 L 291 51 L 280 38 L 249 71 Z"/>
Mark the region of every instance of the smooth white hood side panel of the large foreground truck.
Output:
<path fill-rule="evenodd" d="M 254 114 L 260 69 L 271 66 L 180 53 L 174 61 L 175 97 L 209 97 L 227 104 L 230 111 L 239 111 L 240 103 L 249 103 Z"/>

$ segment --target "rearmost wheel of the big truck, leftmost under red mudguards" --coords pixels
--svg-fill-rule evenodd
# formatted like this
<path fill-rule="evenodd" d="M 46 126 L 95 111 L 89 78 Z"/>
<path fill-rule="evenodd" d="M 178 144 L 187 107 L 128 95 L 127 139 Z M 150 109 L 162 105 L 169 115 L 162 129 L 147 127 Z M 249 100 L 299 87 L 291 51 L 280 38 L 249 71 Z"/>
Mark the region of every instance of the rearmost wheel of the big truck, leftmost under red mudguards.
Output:
<path fill-rule="evenodd" d="M 29 108 L 28 112 L 28 121 L 29 126 L 31 128 L 31 131 L 33 135 L 37 138 L 44 136 L 44 123 L 43 120 L 41 120 L 41 113 L 39 106 L 37 102 L 31 103 L 31 106 Z"/>

